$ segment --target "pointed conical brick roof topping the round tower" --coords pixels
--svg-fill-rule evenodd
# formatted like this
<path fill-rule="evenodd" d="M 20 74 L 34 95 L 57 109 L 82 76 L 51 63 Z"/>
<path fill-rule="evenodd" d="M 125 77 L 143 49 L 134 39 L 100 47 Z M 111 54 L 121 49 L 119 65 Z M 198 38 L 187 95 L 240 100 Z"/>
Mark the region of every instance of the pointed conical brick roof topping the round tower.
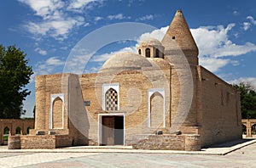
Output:
<path fill-rule="evenodd" d="M 177 10 L 162 44 L 166 48 L 166 53 L 172 53 L 180 48 L 186 56 L 198 56 L 198 48 L 181 10 Z"/>

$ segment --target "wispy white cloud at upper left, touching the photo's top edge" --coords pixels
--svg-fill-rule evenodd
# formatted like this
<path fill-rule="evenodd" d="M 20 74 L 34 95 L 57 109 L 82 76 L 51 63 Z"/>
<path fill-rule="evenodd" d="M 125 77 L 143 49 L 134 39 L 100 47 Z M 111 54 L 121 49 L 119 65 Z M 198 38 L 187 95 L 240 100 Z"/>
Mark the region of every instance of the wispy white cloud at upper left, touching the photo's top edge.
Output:
<path fill-rule="evenodd" d="M 34 35 L 36 39 L 42 36 L 51 36 L 56 40 L 66 39 L 75 27 L 84 23 L 84 17 L 77 12 L 83 12 L 83 8 L 91 3 L 102 3 L 102 0 L 19 0 L 32 8 L 35 15 L 42 20 L 28 21 L 24 27 Z M 71 14 L 72 13 L 72 14 Z"/>

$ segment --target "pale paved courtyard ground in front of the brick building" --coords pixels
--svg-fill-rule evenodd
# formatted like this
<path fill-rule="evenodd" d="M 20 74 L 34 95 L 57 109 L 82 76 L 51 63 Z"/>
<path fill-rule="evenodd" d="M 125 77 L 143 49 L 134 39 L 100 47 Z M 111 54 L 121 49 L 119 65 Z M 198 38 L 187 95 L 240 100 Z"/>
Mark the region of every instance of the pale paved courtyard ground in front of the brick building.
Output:
<path fill-rule="evenodd" d="M 3 148 L 3 147 L 1 147 Z M 215 148 L 218 150 L 221 148 Z M 112 149 L 108 149 L 112 151 Z M 225 155 L 83 152 L 69 149 L 67 152 L 2 152 L 0 167 L 256 167 L 256 143 L 249 144 Z M 76 152 L 77 151 L 77 152 Z M 91 150 L 93 151 L 93 150 Z M 98 151 L 101 151 L 99 149 Z M 125 152 L 126 151 L 126 152 Z"/>

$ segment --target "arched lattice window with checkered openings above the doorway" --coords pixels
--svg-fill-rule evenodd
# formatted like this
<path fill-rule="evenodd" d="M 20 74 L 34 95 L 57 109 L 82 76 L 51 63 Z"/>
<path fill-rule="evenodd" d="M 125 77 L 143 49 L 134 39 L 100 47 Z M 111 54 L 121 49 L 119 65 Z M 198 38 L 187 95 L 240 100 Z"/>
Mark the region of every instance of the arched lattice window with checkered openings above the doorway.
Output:
<path fill-rule="evenodd" d="M 118 110 L 118 92 L 113 88 L 108 89 L 105 94 L 105 108 L 107 111 Z"/>

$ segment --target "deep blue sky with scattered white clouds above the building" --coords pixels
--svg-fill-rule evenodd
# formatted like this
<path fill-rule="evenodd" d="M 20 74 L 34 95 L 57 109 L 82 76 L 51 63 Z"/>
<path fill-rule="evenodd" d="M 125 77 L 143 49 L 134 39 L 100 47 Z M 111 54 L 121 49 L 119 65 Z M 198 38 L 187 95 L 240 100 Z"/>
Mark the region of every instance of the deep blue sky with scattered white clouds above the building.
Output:
<path fill-rule="evenodd" d="M 34 76 L 61 73 L 72 49 L 84 36 L 124 22 L 157 28 L 142 33 L 137 40 L 112 42 L 100 48 L 83 69 L 95 72 L 113 53 L 135 52 L 139 39 L 153 36 L 161 40 L 177 9 L 183 10 L 195 37 L 201 65 L 225 81 L 250 81 L 256 87 L 255 6 L 255 0 L 2 1 L 0 43 L 25 51 L 35 72 L 27 86 L 32 94 L 24 102 L 26 116 L 32 116 L 35 104 Z M 124 33 L 127 31 L 124 29 Z M 85 66 L 83 63 L 79 61 L 78 66 Z"/>

